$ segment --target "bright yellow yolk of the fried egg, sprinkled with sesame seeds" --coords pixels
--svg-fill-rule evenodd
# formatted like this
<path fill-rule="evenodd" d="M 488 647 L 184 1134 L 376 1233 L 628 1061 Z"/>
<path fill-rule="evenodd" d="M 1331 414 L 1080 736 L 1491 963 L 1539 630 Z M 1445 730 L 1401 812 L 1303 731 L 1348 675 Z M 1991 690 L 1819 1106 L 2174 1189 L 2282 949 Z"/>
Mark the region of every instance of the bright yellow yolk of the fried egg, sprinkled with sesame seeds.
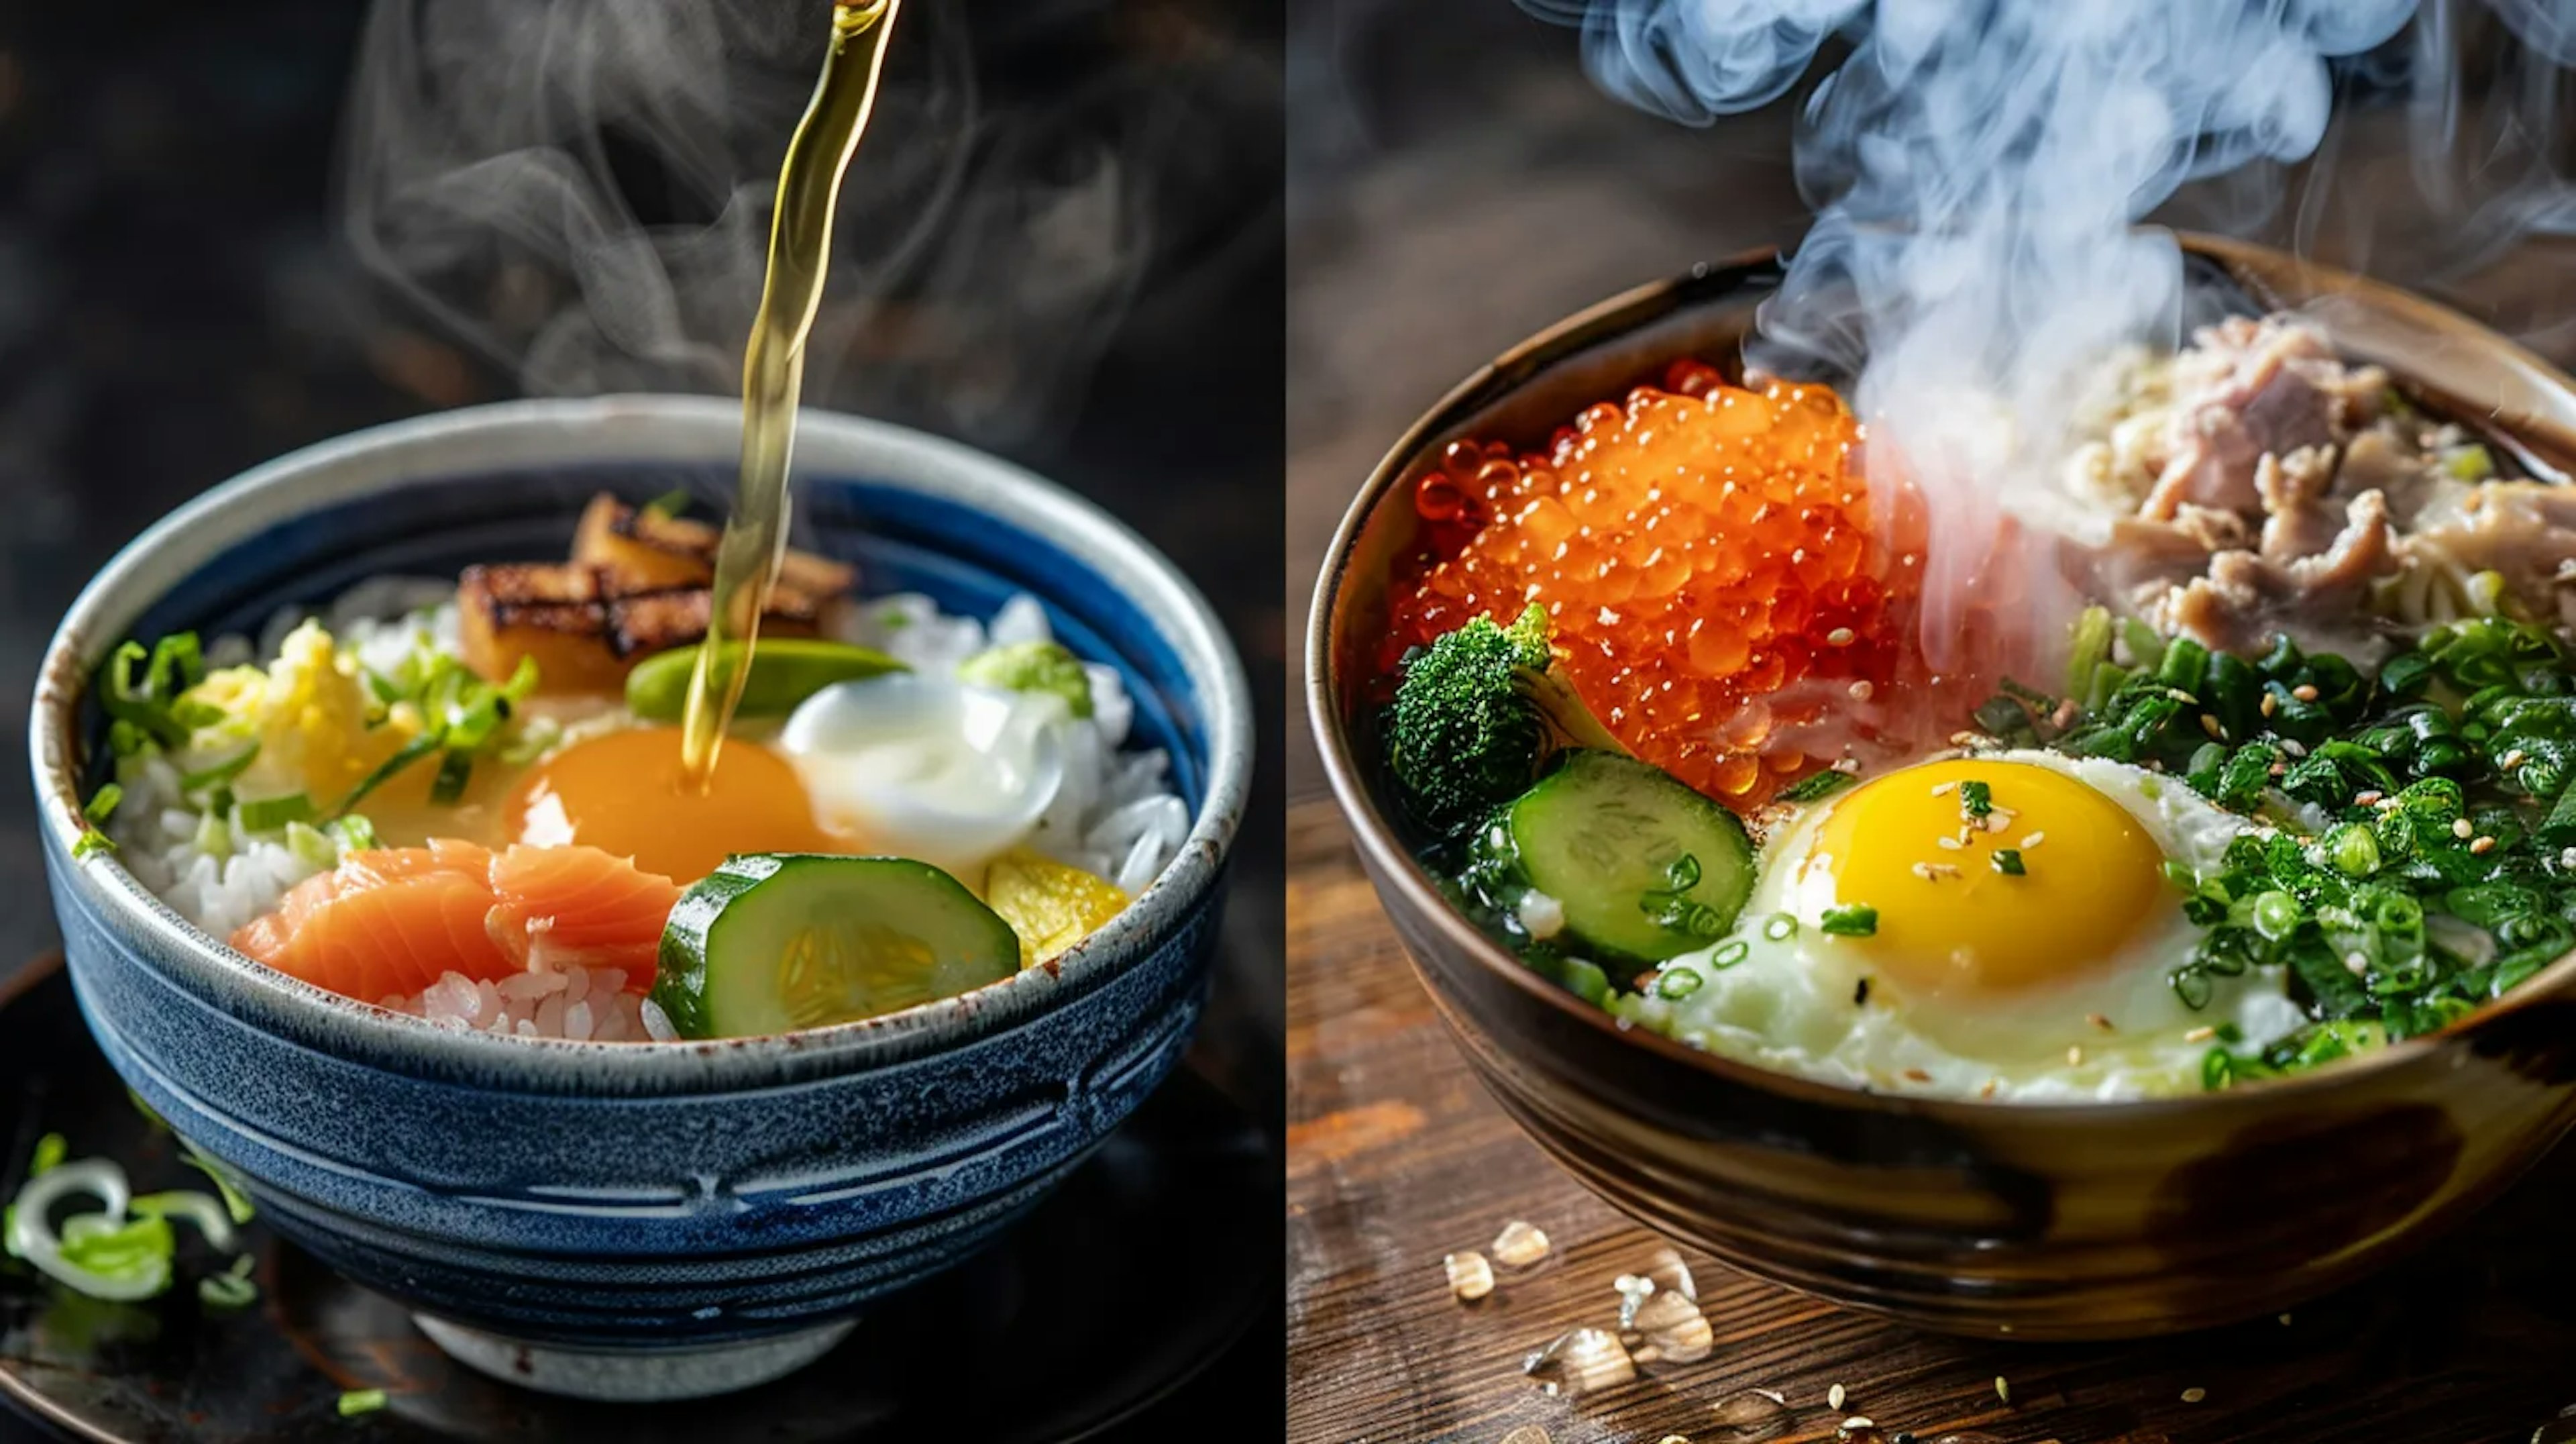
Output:
<path fill-rule="evenodd" d="M 2053 988 L 2112 964 L 2172 905 L 2138 820 L 2032 763 L 1958 758 L 1862 784 L 1806 866 L 1834 879 L 1837 905 L 1878 910 L 1878 931 L 1847 941 L 1914 995 Z"/>

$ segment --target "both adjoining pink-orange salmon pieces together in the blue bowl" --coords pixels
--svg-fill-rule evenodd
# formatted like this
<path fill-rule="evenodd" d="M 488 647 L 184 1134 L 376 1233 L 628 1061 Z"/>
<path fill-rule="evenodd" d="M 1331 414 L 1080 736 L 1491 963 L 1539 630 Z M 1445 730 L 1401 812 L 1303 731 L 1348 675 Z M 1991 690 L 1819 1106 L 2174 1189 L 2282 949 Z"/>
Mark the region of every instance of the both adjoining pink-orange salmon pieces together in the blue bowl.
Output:
<path fill-rule="evenodd" d="M 600 848 L 438 838 L 350 851 L 294 884 L 232 946 L 361 1003 L 410 998 L 443 975 L 500 982 L 533 962 L 616 967 L 652 988 L 680 887 Z"/>

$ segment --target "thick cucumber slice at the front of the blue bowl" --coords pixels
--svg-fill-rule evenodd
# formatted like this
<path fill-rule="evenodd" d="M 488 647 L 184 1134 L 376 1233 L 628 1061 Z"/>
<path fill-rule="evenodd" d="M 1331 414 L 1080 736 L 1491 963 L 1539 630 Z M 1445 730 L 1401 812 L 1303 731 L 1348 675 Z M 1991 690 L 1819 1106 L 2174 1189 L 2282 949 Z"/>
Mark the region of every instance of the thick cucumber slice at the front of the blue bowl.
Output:
<path fill-rule="evenodd" d="M 912 859 L 750 854 L 680 895 L 652 998 L 683 1037 L 873 1019 L 1020 970 L 1020 939 Z"/>

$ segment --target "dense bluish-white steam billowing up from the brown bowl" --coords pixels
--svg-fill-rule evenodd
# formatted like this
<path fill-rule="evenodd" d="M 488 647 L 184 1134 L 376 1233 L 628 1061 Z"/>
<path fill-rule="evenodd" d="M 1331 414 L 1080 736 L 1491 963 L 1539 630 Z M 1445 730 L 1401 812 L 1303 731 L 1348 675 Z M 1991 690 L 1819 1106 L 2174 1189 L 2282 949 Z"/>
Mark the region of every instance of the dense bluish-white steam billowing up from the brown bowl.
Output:
<path fill-rule="evenodd" d="M 2277 214 L 2285 168 L 2336 119 L 2349 57 L 2388 46 L 2414 0 L 1530 0 L 1584 28 L 1613 95 L 1710 124 L 1788 93 L 1847 46 L 1795 132 L 1816 224 L 1747 358 L 1852 379 L 1875 474 L 1924 500 L 1922 645 L 1942 670 L 2022 670 L 2076 606 L 2040 529 L 2076 379 L 2123 343 L 2182 340 L 2190 297 L 2166 232 L 2133 229 L 2195 180 L 2202 214 Z M 2429 211 L 2483 232 L 2476 255 L 2576 219 L 2553 64 L 2576 59 L 2576 3 L 2499 0 L 2527 57 L 2470 124 L 2455 31 L 2416 28 L 2409 90 Z M 2372 54 L 2372 62 L 2380 57 Z M 2336 64 L 2342 62 L 2342 64 Z M 2383 83 L 2388 77 L 2383 75 Z M 2543 85 L 2545 80 L 2545 85 Z M 2483 126 L 2483 129 L 2481 129 Z M 2473 165 L 2463 150 L 2486 147 Z M 2499 173 L 2499 157 L 2512 165 Z M 2241 180 L 2244 168 L 2254 180 Z M 2313 178 L 2311 178 L 2313 180 Z M 2313 193 L 2311 193 L 2313 199 Z M 2476 227 L 2463 224 L 2463 235 Z M 2460 245 L 2455 263 L 2476 260 Z M 1880 487 L 1886 498 L 1888 487 Z M 1886 500 L 1883 500 L 1886 505 Z"/>

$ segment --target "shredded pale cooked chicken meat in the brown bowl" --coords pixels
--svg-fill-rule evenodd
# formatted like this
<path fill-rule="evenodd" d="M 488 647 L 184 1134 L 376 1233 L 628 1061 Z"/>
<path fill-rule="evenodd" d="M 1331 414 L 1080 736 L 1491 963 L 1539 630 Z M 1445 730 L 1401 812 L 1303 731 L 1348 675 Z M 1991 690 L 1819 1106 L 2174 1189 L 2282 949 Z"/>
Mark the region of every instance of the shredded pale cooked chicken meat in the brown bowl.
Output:
<path fill-rule="evenodd" d="M 2066 469 L 2110 521 L 2063 560 L 2164 634 L 2375 660 L 2393 632 L 2499 601 L 2576 621 L 2576 490 L 2496 480 L 2311 322 L 2226 320 L 2115 392 Z"/>

